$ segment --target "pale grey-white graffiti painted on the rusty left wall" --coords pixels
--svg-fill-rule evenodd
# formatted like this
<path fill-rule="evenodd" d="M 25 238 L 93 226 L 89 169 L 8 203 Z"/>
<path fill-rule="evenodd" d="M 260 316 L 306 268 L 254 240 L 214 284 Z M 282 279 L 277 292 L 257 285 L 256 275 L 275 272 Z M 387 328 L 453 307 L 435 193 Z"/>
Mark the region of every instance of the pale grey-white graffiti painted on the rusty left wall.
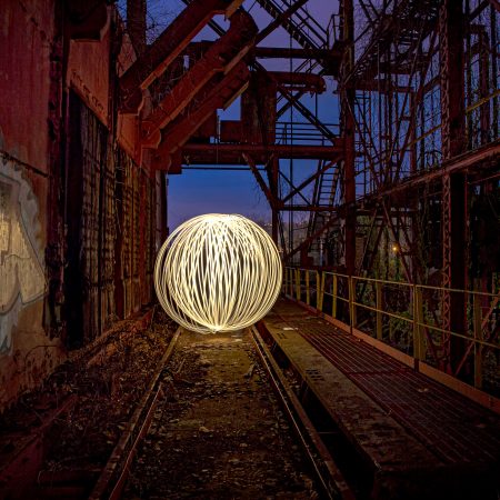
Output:
<path fill-rule="evenodd" d="M 12 347 L 12 329 L 21 310 L 43 297 L 46 279 L 38 203 L 20 169 L 0 166 L 0 356 Z"/>

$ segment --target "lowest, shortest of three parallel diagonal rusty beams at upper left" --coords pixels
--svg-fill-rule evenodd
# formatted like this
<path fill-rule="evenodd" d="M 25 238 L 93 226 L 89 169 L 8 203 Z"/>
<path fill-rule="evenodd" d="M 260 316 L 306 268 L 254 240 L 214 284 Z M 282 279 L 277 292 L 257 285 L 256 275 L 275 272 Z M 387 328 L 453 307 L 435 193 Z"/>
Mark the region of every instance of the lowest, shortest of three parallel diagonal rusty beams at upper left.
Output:
<path fill-rule="evenodd" d="M 153 167 L 158 170 L 168 170 L 172 154 L 180 151 L 180 148 L 217 109 L 227 108 L 240 96 L 247 88 L 249 79 L 250 71 L 247 64 L 240 61 L 219 82 L 206 86 L 202 90 L 203 94 L 199 97 L 200 106 L 193 107 L 189 113 L 163 130 L 163 140 L 153 156 Z"/>

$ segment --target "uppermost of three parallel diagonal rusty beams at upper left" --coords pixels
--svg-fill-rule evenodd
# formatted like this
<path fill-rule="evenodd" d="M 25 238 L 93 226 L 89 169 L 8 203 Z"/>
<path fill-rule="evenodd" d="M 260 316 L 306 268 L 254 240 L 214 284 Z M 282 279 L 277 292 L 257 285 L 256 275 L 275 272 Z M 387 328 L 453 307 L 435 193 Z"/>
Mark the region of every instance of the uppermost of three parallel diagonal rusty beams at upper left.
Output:
<path fill-rule="evenodd" d="M 216 14 L 230 17 L 242 0 L 193 0 L 120 78 L 121 112 L 137 113 L 147 89 Z"/>

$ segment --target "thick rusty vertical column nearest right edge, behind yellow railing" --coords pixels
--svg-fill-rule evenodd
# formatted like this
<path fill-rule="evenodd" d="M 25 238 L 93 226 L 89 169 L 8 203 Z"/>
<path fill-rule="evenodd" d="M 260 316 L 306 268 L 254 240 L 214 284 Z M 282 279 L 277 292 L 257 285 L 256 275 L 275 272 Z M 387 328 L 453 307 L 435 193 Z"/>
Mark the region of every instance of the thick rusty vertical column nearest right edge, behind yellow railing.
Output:
<path fill-rule="evenodd" d="M 463 67 L 462 2 L 442 0 L 439 16 L 441 69 L 441 142 L 443 160 L 463 151 L 464 137 L 464 67 Z M 463 174 L 442 178 L 442 284 L 444 288 L 464 289 L 466 262 L 466 182 Z M 467 328 L 464 297 L 446 293 L 443 326 L 447 331 L 462 333 Z M 454 361 L 463 353 L 463 341 L 444 339 L 446 368 L 452 371 Z"/>

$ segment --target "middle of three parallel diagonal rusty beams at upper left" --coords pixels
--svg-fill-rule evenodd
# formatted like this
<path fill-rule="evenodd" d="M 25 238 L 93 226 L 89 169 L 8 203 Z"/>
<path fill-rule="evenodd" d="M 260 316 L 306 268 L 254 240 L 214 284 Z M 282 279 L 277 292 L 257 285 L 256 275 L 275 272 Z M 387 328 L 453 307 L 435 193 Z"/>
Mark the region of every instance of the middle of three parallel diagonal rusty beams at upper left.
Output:
<path fill-rule="evenodd" d="M 142 147 L 157 148 L 161 129 L 174 120 L 216 73 L 228 72 L 244 57 L 258 31 L 250 14 L 238 11 L 223 37 L 212 43 L 203 57 L 142 122 Z"/>

